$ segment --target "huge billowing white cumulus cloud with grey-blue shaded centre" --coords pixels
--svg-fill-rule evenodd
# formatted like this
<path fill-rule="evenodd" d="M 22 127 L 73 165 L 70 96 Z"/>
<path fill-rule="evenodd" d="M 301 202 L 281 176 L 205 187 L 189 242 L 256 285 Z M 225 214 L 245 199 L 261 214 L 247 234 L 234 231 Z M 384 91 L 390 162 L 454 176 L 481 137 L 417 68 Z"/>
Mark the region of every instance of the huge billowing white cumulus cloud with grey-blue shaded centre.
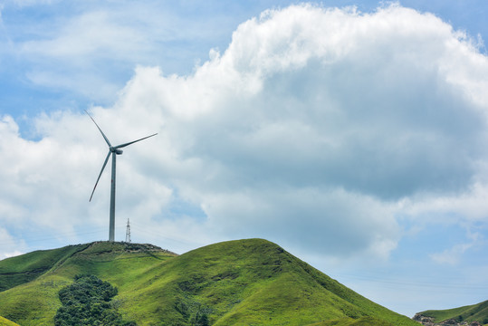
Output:
<path fill-rule="evenodd" d="M 432 14 L 294 5 L 241 24 L 225 52 L 210 51 L 190 75 L 139 67 L 119 101 L 91 112 L 120 142 L 159 131 L 127 149 L 118 186 L 120 218 L 153 239 L 261 236 L 330 256 L 387 257 L 402 235 L 398 216 L 469 216 L 483 200 L 487 72 L 470 39 Z M 53 155 L 40 150 L 49 139 L 74 155 L 56 134 L 66 124 L 88 161 L 72 174 L 95 177 L 104 149 L 89 149 L 100 135 L 80 114 L 38 121 L 43 139 L 31 155 Z M 449 198 L 455 204 L 436 208 Z M 97 209 L 80 206 L 72 218 Z"/>

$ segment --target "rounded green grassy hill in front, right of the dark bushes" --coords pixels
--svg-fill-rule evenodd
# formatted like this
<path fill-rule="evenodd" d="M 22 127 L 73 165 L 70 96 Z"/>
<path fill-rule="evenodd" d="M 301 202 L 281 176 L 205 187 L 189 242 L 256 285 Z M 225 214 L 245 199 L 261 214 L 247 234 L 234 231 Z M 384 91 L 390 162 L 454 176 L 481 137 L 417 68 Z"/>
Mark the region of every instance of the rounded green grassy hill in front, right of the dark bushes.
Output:
<path fill-rule="evenodd" d="M 182 254 L 148 270 L 146 280 L 130 290 L 121 296 L 139 304 L 122 309 L 141 325 L 185 322 L 174 307 L 186 302 L 211 309 L 215 325 L 304 325 L 370 314 L 395 325 L 416 325 L 261 239 Z M 164 304 L 146 303 L 151 297 Z"/>

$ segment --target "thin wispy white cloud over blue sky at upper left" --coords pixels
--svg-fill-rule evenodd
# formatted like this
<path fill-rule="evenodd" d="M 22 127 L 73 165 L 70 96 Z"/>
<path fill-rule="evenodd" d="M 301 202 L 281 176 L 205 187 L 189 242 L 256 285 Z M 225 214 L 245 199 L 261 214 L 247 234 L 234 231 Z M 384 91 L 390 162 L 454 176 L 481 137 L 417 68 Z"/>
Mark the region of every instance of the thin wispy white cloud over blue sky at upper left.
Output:
<path fill-rule="evenodd" d="M 195 12 L 186 5 L 159 1 L 62 5 L 57 0 L 33 0 L 4 5 L 2 13 L 9 19 L 1 26 L 5 41 L 0 59 L 15 67 L 14 80 L 69 92 L 69 97 L 89 103 L 112 103 L 138 64 L 191 72 L 208 48 L 222 42 L 224 34 L 225 41 L 230 36 L 228 26 L 223 29 L 229 22 L 221 5 L 217 11 L 210 4 L 192 4 L 202 9 Z M 31 10 L 38 13 L 32 19 L 24 18 L 29 14 L 16 18 Z M 212 17 L 202 11 L 211 11 Z M 216 16 L 222 19 L 216 22 Z"/>

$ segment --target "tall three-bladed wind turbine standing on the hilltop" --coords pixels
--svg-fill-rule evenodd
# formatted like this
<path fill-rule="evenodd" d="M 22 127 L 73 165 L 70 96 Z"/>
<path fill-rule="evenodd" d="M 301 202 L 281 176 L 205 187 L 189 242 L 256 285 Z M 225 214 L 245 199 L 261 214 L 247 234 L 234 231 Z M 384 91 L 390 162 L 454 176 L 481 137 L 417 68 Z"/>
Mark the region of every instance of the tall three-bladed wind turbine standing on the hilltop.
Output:
<path fill-rule="evenodd" d="M 110 242 L 113 242 L 114 241 L 114 237 L 115 237 L 115 162 L 116 162 L 117 155 L 122 154 L 122 152 L 123 152 L 122 148 L 125 148 L 126 146 L 129 146 L 129 145 L 131 145 L 131 144 L 133 144 L 135 142 L 138 142 L 140 140 L 148 139 L 149 137 L 156 136 L 156 135 L 158 135 L 158 133 L 152 134 L 150 136 L 147 136 L 147 137 L 144 137 L 144 138 L 141 138 L 141 139 L 137 139 L 137 140 L 134 140 L 134 141 L 130 141 L 130 142 L 125 143 L 125 144 L 121 144 L 121 145 L 117 145 L 117 146 L 112 146 L 110 144 L 110 140 L 107 138 L 107 136 L 105 136 L 105 134 L 103 133 L 103 131 L 101 131 L 101 129 L 100 129 L 99 125 L 97 124 L 97 122 L 95 122 L 95 120 L 93 120 L 93 118 L 91 118 L 90 113 L 88 113 L 87 110 L 85 110 L 85 112 L 86 112 L 86 114 L 88 114 L 88 116 L 93 121 L 93 123 L 95 124 L 95 126 L 97 126 L 97 128 L 100 130 L 101 136 L 103 136 L 103 139 L 105 139 L 105 141 L 107 142 L 107 145 L 109 145 L 109 154 L 107 154 L 107 158 L 105 158 L 105 162 L 103 163 L 103 166 L 101 167 L 101 170 L 100 170 L 100 175 L 97 178 L 97 182 L 95 182 L 95 187 L 93 187 L 93 191 L 91 191 L 90 201 L 91 201 L 91 198 L 93 197 L 93 193 L 95 192 L 95 189 L 96 189 L 97 185 L 99 184 L 99 180 L 100 180 L 101 174 L 103 173 L 103 169 L 107 165 L 107 162 L 109 161 L 110 155 L 112 156 L 112 179 L 111 179 L 111 187 L 110 187 L 109 241 Z"/>

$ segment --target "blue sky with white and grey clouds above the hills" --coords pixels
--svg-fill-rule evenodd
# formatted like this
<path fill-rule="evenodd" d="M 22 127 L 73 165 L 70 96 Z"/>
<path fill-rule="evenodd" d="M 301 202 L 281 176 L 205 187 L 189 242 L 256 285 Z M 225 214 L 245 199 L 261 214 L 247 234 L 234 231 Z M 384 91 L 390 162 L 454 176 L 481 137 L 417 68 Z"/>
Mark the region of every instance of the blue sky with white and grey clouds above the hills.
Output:
<path fill-rule="evenodd" d="M 265 238 L 412 317 L 487 300 L 484 0 L 0 1 L 0 259 Z"/>

